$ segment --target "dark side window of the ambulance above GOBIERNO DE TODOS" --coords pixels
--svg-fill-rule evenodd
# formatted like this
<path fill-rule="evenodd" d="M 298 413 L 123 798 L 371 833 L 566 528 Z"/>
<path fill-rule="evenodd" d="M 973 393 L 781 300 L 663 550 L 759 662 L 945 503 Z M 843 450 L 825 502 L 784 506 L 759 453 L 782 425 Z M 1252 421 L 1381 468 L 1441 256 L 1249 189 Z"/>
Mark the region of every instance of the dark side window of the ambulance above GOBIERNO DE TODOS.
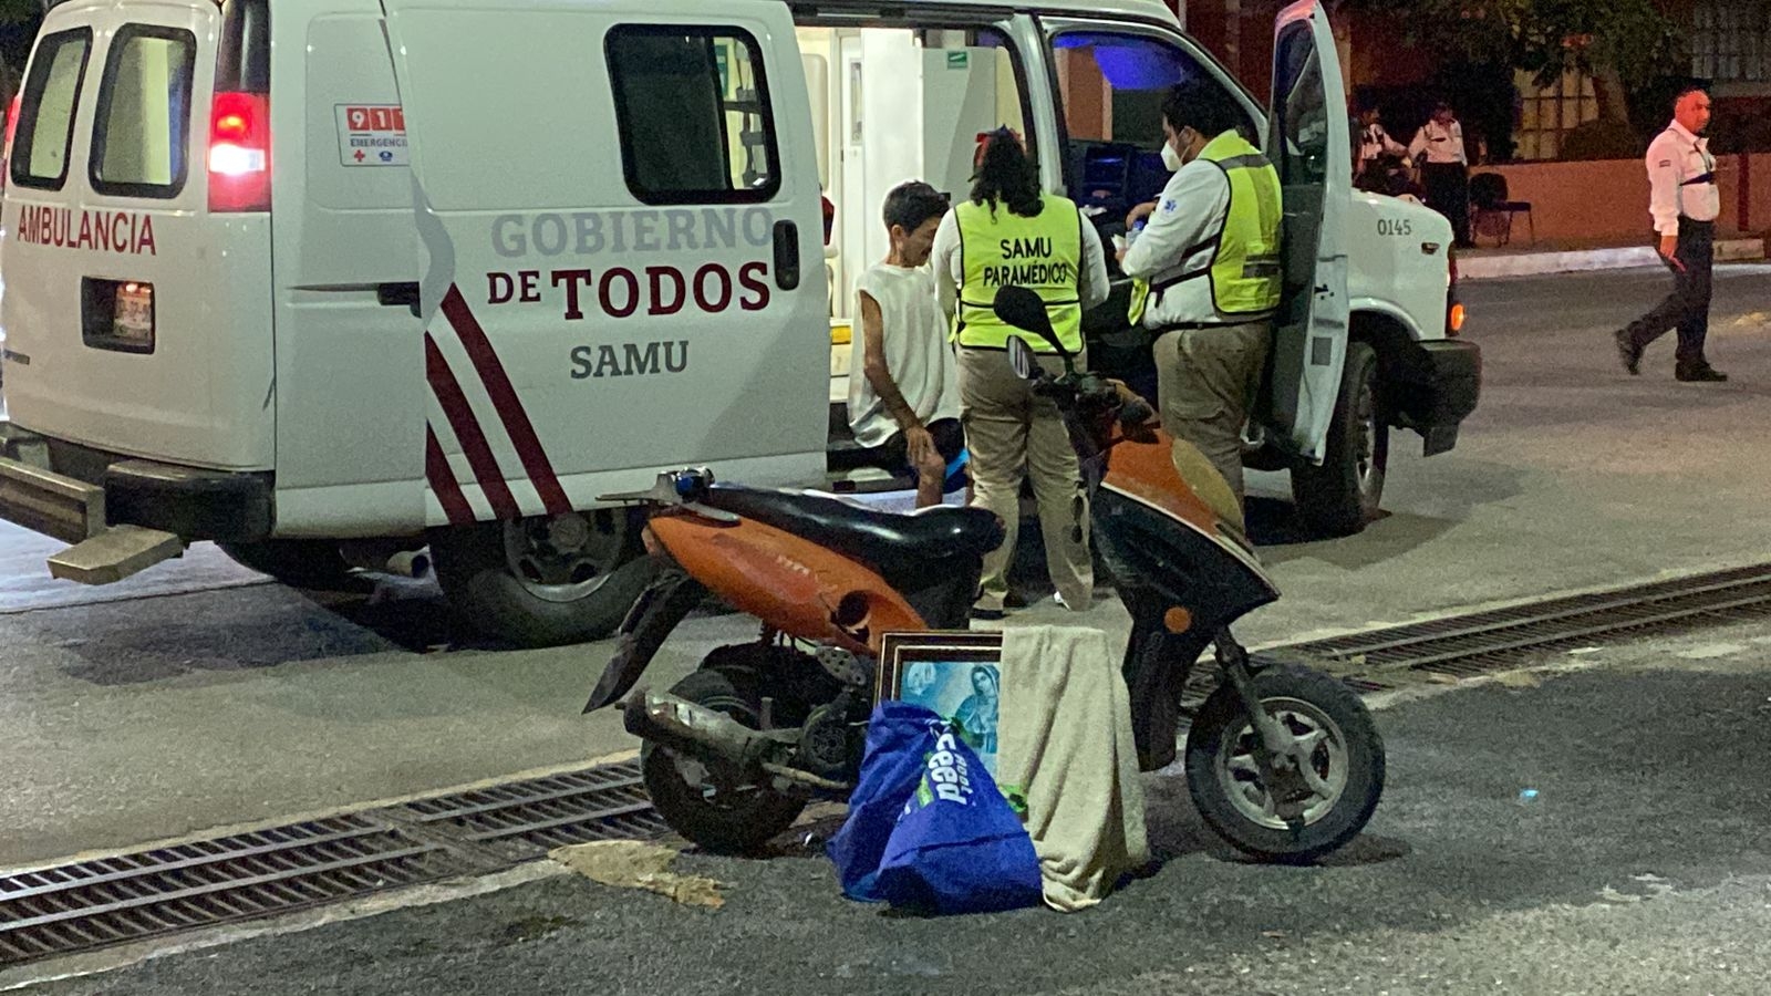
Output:
<path fill-rule="evenodd" d="M 625 25 L 607 37 L 627 188 L 645 204 L 749 204 L 781 190 L 762 50 L 740 28 Z"/>

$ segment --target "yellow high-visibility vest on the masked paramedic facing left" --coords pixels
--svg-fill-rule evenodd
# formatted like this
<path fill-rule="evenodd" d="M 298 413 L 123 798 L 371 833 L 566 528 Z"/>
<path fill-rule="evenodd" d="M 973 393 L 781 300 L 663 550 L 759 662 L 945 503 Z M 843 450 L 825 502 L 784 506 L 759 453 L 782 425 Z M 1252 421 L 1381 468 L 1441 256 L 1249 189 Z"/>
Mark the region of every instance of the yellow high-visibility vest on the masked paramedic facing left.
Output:
<path fill-rule="evenodd" d="M 1217 250 L 1211 262 L 1199 269 L 1165 276 L 1155 285 L 1137 280 L 1132 285 L 1132 324 L 1144 321 L 1153 292 L 1197 278 L 1211 280 L 1211 305 L 1222 315 L 1254 317 L 1279 307 L 1284 287 L 1279 170 L 1234 131 L 1213 138 L 1199 158 L 1224 170 L 1229 179 L 1229 209 L 1224 211 L 1224 227 L 1215 239 Z"/>

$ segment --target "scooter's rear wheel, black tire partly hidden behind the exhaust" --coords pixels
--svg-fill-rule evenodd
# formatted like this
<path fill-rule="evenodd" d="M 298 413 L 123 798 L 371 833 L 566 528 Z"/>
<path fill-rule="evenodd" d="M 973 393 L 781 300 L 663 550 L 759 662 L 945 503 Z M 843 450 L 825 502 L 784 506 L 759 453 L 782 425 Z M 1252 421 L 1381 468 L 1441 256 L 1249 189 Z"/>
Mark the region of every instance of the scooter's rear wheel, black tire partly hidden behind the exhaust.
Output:
<path fill-rule="evenodd" d="M 749 672 L 700 670 L 677 682 L 671 695 L 746 727 L 762 721 L 762 700 Z M 756 851 L 793 826 L 808 801 L 652 743 L 639 750 L 639 771 L 664 822 L 715 854 Z"/>

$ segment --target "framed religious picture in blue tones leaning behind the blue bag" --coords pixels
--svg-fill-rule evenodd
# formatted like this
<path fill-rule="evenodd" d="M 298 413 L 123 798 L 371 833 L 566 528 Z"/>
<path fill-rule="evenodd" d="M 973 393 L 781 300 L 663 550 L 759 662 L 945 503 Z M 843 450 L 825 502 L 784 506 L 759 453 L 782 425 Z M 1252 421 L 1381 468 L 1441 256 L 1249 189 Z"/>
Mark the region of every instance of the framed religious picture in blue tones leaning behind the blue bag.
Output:
<path fill-rule="evenodd" d="M 1002 634 L 972 631 L 887 633 L 880 642 L 877 702 L 926 705 L 955 721 L 994 778 L 1001 728 Z"/>

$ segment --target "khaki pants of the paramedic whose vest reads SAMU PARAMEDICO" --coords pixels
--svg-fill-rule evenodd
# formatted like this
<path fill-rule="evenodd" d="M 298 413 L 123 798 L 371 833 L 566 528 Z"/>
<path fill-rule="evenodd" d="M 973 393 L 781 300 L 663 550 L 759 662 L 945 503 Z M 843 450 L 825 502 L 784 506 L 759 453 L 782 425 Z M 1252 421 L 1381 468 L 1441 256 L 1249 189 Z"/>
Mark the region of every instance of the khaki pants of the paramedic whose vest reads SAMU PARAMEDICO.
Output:
<path fill-rule="evenodd" d="M 1054 358 L 1045 360 L 1054 363 Z M 1082 363 L 1082 358 L 1077 358 Z M 1070 447 L 1064 418 L 1015 376 L 1002 349 L 960 349 L 960 418 L 972 454 L 972 503 L 1008 526 L 1002 546 L 985 556 L 978 608 L 1001 610 L 1020 525 L 1020 482 L 1032 479 L 1040 502 L 1045 564 L 1064 604 L 1084 610 L 1094 597 L 1089 558 L 1089 496 Z"/>

